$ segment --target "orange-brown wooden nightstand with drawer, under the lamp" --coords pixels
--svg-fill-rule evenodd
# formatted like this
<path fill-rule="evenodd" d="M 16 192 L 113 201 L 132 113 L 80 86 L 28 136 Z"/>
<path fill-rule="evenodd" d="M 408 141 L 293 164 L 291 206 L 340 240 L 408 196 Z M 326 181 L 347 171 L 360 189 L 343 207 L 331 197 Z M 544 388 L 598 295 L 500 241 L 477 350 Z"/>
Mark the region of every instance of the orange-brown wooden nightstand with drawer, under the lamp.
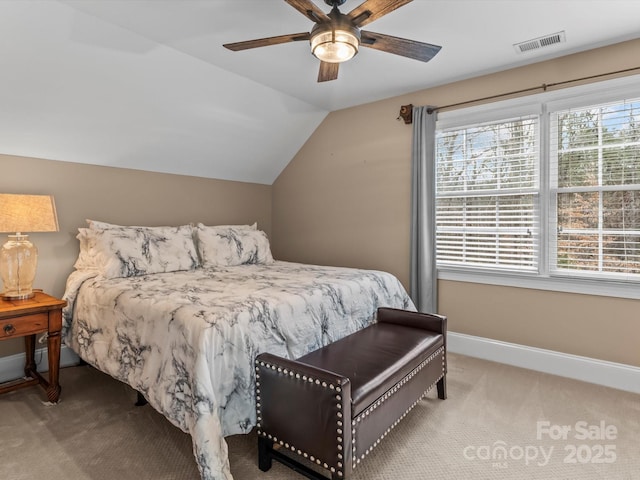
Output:
<path fill-rule="evenodd" d="M 26 379 L 18 379 L 0 384 L 0 393 L 17 388 L 40 384 L 52 403 L 58 401 L 60 384 L 60 330 L 62 329 L 62 309 L 64 300 L 36 292 L 34 298 L 26 300 L 0 300 L 0 340 L 24 337 L 27 361 L 24 367 Z M 49 357 L 49 380 L 37 371 L 35 362 L 36 335 L 47 333 Z"/>

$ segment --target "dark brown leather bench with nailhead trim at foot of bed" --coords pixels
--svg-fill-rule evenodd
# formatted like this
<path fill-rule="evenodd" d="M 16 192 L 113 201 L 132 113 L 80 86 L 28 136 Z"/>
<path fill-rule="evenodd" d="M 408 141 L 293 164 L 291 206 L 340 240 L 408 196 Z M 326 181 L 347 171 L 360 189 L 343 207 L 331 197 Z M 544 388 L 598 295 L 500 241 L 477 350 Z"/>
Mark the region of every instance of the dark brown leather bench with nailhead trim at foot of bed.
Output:
<path fill-rule="evenodd" d="M 259 468 L 348 478 L 434 385 L 446 398 L 446 331 L 441 315 L 379 308 L 373 325 L 297 360 L 258 355 Z"/>

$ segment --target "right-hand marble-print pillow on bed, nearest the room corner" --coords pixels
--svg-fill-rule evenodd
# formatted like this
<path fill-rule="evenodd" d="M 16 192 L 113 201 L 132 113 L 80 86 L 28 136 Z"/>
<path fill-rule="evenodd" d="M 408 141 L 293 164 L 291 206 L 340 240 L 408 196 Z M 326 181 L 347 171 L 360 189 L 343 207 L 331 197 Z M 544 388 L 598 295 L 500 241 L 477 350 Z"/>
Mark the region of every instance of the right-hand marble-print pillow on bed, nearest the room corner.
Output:
<path fill-rule="evenodd" d="M 273 263 L 269 239 L 262 230 L 198 224 L 195 232 L 203 267 Z"/>

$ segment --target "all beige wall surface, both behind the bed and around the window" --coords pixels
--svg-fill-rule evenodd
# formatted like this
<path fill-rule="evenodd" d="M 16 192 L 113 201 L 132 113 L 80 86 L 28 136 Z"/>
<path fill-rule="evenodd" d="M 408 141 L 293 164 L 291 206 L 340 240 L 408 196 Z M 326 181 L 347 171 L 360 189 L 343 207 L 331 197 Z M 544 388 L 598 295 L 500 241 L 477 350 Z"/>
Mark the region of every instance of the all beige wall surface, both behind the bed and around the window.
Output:
<path fill-rule="evenodd" d="M 36 287 L 62 295 L 85 218 L 251 223 L 281 260 L 390 271 L 408 287 L 411 127 L 401 105 L 444 105 L 637 66 L 640 40 L 333 112 L 272 187 L 0 155 L 0 192 L 51 193 L 60 232 L 34 234 Z M 451 331 L 640 366 L 640 302 L 440 282 Z M 523 308 L 526 306 L 526 308 Z M 0 356 L 21 343 L 0 342 Z"/>

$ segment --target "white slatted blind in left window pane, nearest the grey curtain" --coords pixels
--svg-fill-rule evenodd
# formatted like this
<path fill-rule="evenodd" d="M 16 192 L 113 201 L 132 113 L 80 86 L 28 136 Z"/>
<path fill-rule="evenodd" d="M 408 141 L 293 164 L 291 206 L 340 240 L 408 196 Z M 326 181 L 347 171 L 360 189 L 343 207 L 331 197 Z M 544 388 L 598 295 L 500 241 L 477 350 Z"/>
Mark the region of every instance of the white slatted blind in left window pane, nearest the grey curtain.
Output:
<path fill-rule="evenodd" d="M 438 265 L 537 271 L 538 132 L 527 116 L 437 133 Z"/>

